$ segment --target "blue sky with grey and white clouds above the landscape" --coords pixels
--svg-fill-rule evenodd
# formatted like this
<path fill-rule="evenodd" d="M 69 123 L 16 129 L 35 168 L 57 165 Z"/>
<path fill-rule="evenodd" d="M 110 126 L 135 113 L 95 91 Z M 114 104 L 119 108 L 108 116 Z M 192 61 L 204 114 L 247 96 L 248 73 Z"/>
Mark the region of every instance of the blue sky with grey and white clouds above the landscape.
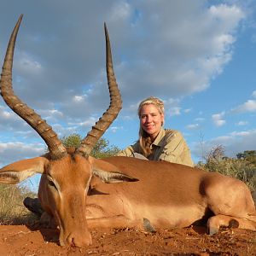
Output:
<path fill-rule="evenodd" d="M 255 1 L 1 0 L 0 62 L 24 14 L 15 48 L 15 93 L 60 137 L 85 136 L 108 108 L 103 22 L 123 109 L 105 133 L 137 140 L 137 104 L 158 96 L 166 128 L 182 131 L 195 162 L 223 145 L 256 149 Z M 0 166 L 44 153 L 35 131 L 0 99 Z"/>

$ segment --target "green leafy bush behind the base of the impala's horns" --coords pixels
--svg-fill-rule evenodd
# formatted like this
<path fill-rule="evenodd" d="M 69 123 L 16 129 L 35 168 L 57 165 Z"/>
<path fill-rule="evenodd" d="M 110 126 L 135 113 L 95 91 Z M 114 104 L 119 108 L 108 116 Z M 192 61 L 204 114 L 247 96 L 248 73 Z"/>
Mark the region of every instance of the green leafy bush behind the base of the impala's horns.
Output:
<path fill-rule="evenodd" d="M 82 137 L 77 134 L 73 133 L 67 137 L 62 137 L 61 141 L 65 147 L 79 147 L 80 143 L 82 142 Z M 113 156 L 119 152 L 119 148 L 113 145 L 109 146 L 109 142 L 105 138 L 100 138 L 95 147 L 92 149 L 90 155 L 95 158 L 104 158 L 108 156 Z"/>

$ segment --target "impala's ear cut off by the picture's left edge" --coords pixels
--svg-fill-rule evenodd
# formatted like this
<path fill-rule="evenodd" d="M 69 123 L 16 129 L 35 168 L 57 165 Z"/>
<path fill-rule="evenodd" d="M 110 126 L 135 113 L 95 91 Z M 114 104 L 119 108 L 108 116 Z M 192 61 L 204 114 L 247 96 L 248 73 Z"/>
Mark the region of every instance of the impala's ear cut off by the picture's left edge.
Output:
<path fill-rule="evenodd" d="M 4 166 L 0 169 L 0 183 L 20 183 L 35 173 L 43 173 L 48 162 L 44 157 L 36 157 Z"/>

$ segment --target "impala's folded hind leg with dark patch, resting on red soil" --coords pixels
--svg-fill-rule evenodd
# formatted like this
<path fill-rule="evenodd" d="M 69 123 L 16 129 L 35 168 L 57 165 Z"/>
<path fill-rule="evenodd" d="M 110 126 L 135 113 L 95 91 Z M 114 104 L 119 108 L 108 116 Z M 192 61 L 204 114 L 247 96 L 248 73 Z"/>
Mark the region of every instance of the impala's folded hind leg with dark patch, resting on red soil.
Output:
<path fill-rule="evenodd" d="M 207 221 L 207 230 L 209 235 L 214 235 L 220 227 L 240 228 L 246 230 L 256 230 L 256 223 L 246 218 L 234 218 L 222 214 L 212 216 Z"/>

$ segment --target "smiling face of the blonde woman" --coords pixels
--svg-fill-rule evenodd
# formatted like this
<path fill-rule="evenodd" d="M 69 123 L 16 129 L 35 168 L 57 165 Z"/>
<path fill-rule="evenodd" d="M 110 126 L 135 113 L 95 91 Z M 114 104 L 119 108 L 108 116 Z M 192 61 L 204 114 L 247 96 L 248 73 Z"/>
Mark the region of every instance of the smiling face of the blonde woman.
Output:
<path fill-rule="evenodd" d="M 143 105 L 140 112 L 140 121 L 143 130 L 154 140 L 164 122 L 164 114 L 160 113 L 154 104 Z"/>

